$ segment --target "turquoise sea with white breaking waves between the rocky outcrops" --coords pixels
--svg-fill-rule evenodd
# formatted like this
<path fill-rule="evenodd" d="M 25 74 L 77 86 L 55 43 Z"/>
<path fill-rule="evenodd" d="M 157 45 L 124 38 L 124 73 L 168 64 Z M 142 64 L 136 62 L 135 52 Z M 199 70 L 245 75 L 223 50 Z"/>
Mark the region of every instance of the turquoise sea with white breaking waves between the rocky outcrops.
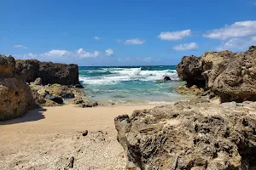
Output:
<path fill-rule="evenodd" d="M 164 77 L 173 81 L 164 82 Z M 113 103 L 165 104 L 183 99 L 175 93 L 179 82 L 175 66 L 79 67 L 79 81 L 90 99 Z"/>

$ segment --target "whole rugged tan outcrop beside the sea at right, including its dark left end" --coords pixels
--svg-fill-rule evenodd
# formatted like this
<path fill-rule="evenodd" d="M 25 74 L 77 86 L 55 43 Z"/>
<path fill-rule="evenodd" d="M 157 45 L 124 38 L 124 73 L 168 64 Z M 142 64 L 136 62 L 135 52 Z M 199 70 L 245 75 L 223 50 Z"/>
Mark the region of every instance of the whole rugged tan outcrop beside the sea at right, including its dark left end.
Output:
<path fill-rule="evenodd" d="M 256 46 L 244 53 L 207 52 L 200 58 L 183 57 L 178 76 L 188 85 L 200 84 L 222 102 L 256 101 Z"/>

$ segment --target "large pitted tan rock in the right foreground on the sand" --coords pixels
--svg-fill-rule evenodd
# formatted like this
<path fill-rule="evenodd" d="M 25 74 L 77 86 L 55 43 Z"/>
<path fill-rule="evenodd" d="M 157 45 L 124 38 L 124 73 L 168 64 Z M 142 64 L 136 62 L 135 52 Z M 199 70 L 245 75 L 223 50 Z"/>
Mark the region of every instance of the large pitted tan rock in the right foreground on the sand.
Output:
<path fill-rule="evenodd" d="M 256 103 L 178 102 L 118 116 L 129 169 L 255 169 Z"/>

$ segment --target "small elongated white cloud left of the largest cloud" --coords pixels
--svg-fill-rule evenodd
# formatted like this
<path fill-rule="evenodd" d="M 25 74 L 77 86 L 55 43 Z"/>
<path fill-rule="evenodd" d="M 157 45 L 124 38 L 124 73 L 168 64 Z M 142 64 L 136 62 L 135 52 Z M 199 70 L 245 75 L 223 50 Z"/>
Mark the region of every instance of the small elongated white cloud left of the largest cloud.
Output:
<path fill-rule="evenodd" d="M 161 40 L 181 40 L 184 37 L 189 37 L 191 35 L 191 30 L 183 30 L 183 31 L 162 31 L 158 36 Z"/>

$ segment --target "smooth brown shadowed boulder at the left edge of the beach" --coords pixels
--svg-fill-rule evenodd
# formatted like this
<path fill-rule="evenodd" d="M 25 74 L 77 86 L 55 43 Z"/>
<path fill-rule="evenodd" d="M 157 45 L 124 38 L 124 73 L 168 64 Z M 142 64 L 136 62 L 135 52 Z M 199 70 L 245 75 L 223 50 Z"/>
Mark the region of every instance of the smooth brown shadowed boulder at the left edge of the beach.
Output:
<path fill-rule="evenodd" d="M 32 92 L 15 74 L 15 59 L 0 56 L 0 121 L 22 116 L 34 107 Z"/>

